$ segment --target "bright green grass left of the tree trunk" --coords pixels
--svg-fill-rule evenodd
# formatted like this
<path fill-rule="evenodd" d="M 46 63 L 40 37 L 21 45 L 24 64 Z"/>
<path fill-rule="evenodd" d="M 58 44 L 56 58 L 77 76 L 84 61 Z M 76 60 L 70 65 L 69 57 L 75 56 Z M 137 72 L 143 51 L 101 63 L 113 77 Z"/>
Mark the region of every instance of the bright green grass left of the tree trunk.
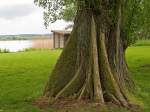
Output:
<path fill-rule="evenodd" d="M 0 112 L 38 112 L 31 102 L 42 94 L 59 54 L 60 51 L 0 54 Z"/>

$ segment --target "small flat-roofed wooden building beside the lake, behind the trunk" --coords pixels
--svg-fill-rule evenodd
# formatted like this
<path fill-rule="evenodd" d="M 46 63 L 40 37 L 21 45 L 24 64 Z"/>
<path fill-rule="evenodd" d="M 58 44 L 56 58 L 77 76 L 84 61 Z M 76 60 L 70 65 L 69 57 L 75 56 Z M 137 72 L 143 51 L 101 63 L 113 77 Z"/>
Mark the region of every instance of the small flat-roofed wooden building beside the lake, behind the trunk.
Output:
<path fill-rule="evenodd" d="M 67 30 L 52 30 L 53 32 L 53 48 L 64 48 L 66 42 L 71 34 L 71 31 Z"/>

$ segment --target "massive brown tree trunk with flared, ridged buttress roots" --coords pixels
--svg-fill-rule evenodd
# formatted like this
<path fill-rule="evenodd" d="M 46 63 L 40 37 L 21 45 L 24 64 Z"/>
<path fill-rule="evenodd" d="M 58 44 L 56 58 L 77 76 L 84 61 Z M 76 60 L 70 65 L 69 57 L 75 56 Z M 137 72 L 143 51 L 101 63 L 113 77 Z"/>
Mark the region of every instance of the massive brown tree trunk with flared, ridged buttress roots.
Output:
<path fill-rule="evenodd" d="M 131 81 L 121 38 L 122 4 L 117 0 L 117 19 L 110 24 L 105 2 L 94 0 L 79 7 L 70 39 L 50 75 L 45 96 L 129 106 L 126 85 Z"/>

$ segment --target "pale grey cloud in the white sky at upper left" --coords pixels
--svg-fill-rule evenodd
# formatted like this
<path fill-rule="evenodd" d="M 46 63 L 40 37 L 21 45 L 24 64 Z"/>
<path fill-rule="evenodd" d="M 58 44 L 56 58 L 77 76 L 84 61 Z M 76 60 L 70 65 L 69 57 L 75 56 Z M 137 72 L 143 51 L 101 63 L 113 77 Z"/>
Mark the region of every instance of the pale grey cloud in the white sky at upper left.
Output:
<path fill-rule="evenodd" d="M 36 10 L 32 4 L 14 4 L 0 7 L 0 18 L 15 19 L 28 16 Z"/>

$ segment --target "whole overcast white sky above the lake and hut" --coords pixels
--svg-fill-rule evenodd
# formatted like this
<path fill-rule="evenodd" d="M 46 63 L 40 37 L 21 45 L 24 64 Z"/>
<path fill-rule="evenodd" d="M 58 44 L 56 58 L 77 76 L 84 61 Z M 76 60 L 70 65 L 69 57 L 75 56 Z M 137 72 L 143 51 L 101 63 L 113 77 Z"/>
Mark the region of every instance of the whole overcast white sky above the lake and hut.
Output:
<path fill-rule="evenodd" d="M 43 25 L 43 9 L 33 3 L 34 0 L 0 0 L 0 35 L 50 33 L 51 29 L 63 29 L 68 23 L 59 20 Z"/>

